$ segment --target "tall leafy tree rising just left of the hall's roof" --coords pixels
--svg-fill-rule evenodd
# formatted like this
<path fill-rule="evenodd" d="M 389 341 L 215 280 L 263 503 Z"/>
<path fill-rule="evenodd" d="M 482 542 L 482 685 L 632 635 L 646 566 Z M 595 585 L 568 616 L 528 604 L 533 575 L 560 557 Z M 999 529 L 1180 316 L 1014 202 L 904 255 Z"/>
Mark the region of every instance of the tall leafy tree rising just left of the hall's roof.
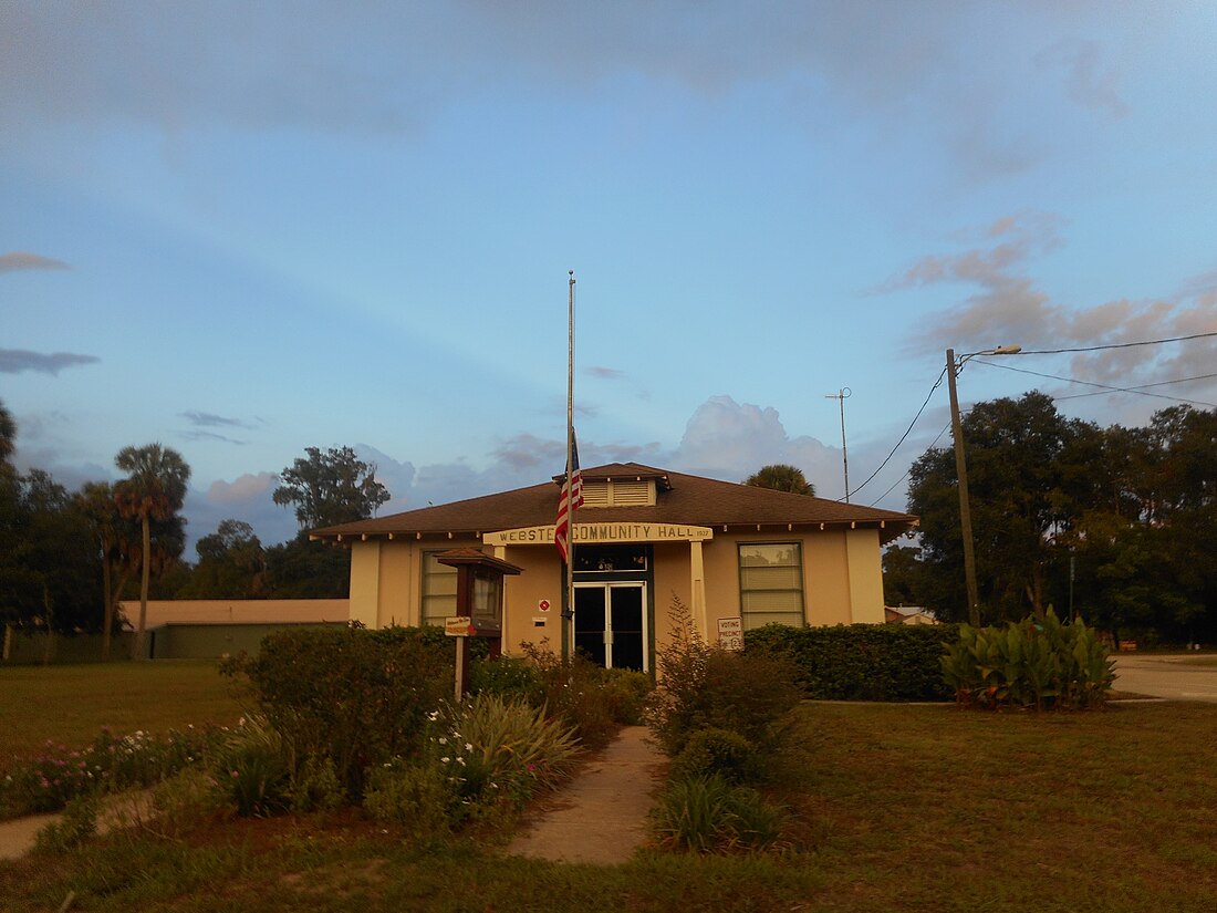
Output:
<path fill-rule="evenodd" d="M 349 447 L 304 452 L 307 459 L 298 458 L 280 474 L 274 494 L 275 504 L 296 505 L 302 530 L 364 520 L 389 499 L 388 489 L 376 481 L 376 466 Z"/>

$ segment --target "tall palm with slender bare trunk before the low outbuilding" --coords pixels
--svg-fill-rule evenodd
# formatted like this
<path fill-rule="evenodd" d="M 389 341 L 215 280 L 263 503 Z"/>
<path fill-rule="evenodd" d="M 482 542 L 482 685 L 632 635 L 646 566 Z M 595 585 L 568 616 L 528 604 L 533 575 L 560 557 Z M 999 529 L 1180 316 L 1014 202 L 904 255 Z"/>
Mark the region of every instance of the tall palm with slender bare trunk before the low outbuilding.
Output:
<path fill-rule="evenodd" d="M 114 486 L 114 502 L 125 517 L 140 521 L 142 551 L 140 560 L 140 622 L 135 628 L 134 652 L 146 659 L 144 640 L 148 610 L 148 582 L 152 571 L 152 521 L 168 521 L 186 500 L 190 466 L 181 454 L 161 444 L 124 447 L 114 465 L 130 474 Z"/>

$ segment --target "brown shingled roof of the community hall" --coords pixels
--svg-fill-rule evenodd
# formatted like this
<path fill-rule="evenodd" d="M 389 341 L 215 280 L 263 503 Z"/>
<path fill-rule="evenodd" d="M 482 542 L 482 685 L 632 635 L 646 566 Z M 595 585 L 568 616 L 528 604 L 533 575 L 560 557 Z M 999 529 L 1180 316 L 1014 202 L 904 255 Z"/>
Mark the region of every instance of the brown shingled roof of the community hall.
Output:
<path fill-rule="evenodd" d="M 806 494 L 720 482 L 714 478 L 669 472 L 638 463 L 611 463 L 582 470 L 584 480 L 654 478 L 658 494 L 654 505 L 581 508 L 576 522 L 655 522 L 724 527 L 869 526 L 884 530 L 884 542 L 916 525 L 910 514 L 898 514 L 857 504 L 842 504 Z M 555 481 L 516 488 L 482 498 L 408 510 L 402 514 L 358 520 L 314 530 L 315 538 L 343 540 L 381 536 L 475 536 L 500 530 L 551 525 L 557 514 L 559 486 Z"/>

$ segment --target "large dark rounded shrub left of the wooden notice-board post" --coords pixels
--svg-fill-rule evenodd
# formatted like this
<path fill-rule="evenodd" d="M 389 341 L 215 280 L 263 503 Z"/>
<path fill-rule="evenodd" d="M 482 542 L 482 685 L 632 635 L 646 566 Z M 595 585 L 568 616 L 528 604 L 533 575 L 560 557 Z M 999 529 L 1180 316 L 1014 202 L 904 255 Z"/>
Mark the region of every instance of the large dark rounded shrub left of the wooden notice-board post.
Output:
<path fill-rule="evenodd" d="M 449 652 L 433 642 L 410 628 L 279 631 L 224 668 L 248 676 L 293 782 L 310 760 L 329 761 L 358 797 L 370 767 L 420 747 L 426 715 L 450 688 Z"/>

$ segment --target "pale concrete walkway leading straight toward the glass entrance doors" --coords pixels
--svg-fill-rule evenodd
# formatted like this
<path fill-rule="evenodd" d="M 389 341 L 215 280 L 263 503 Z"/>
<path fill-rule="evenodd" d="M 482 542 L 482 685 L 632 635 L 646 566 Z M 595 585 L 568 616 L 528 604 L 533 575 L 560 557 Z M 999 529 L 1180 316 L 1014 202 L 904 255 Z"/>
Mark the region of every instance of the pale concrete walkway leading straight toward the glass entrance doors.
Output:
<path fill-rule="evenodd" d="M 622 729 L 506 852 L 598 866 L 628 861 L 646 839 L 646 813 L 666 760 L 646 735 L 645 726 Z"/>

